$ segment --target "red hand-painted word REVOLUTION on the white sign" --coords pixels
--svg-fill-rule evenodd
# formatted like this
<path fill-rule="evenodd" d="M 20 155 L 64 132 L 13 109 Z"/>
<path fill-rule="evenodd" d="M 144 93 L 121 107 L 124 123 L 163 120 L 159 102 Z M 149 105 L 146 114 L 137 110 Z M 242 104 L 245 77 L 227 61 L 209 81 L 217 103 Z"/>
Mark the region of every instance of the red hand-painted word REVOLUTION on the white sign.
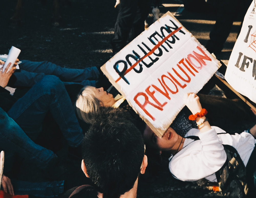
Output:
<path fill-rule="evenodd" d="M 166 100 L 171 100 L 169 94 L 176 94 L 180 88 L 184 89 L 191 81 L 191 78 L 196 76 L 195 73 L 198 73 L 198 70 L 201 70 L 204 66 L 206 66 L 206 62 L 204 60 L 211 61 L 211 58 L 207 56 L 207 54 L 199 46 L 197 46 L 197 50 L 198 52 L 193 51 L 192 53 L 188 54 L 186 58 L 182 58 L 178 62 L 177 68 L 172 67 L 170 68 L 170 71 L 160 75 L 160 77 L 157 79 L 159 82 L 158 85 L 151 84 L 145 89 L 145 92 L 138 92 L 133 98 L 134 102 L 152 120 L 155 120 L 155 118 L 146 109 L 148 105 L 163 111 L 163 107 L 167 104 L 167 102 L 161 104 L 159 100 L 157 100 L 157 98 L 154 96 L 156 91 L 161 93 Z M 149 97 L 153 99 L 154 103 L 149 101 Z"/>

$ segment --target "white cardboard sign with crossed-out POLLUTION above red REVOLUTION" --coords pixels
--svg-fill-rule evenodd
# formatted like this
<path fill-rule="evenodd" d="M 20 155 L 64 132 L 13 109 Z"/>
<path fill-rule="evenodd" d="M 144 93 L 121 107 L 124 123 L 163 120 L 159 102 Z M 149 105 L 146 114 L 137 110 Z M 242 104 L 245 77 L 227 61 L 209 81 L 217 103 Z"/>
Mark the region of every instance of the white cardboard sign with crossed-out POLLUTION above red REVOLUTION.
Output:
<path fill-rule="evenodd" d="M 162 136 L 184 107 L 184 94 L 197 93 L 219 65 L 168 12 L 101 70 L 135 112 Z"/>

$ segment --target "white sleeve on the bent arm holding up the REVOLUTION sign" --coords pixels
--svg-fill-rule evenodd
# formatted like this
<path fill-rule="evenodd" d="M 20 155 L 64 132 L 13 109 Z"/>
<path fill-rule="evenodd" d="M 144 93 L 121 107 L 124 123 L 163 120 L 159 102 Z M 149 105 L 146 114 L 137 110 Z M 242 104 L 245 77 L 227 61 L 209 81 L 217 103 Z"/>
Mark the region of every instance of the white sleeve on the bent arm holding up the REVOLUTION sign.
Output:
<path fill-rule="evenodd" d="M 214 174 L 227 155 L 214 128 L 199 133 L 200 140 L 183 147 L 169 163 L 169 170 L 179 180 L 195 181 Z"/>

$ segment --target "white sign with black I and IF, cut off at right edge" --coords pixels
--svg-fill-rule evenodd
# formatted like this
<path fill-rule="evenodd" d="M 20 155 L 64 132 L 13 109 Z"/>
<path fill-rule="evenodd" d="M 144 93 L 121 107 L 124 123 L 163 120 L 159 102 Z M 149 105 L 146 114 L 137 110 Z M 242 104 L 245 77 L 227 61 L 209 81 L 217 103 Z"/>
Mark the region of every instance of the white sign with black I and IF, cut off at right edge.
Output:
<path fill-rule="evenodd" d="M 239 93 L 256 103 L 256 14 L 252 1 L 229 58 L 225 79 Z"/>

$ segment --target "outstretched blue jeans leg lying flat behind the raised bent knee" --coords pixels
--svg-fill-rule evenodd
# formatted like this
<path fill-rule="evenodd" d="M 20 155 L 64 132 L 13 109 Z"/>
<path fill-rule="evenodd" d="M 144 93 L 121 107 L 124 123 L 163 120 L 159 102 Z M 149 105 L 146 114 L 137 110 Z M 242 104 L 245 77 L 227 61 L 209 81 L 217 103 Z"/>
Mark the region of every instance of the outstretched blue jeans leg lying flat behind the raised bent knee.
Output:
<path fill-rule="evenodd" d="M 40 77 L 44 75 L 54 75 L 60 78 L 61 81 L 67 83 L 79 83 L 84 86 L 95 86 L 95 80 L 99 79 L 99 71 L 96 67 L 87 67 L 85 69 L 71 69 L 63 68 L 53 63 L 33 62 L 30 60 L 22 60 L 19 65 L 21 71 L 14 73 L 17 77 L 15 85 L 19 86 L 31 86 L 41 80 Z M 39 80 L 38 80 L 39 79 Z M 25 83 L 25 85 L 23 85 Z"/>

